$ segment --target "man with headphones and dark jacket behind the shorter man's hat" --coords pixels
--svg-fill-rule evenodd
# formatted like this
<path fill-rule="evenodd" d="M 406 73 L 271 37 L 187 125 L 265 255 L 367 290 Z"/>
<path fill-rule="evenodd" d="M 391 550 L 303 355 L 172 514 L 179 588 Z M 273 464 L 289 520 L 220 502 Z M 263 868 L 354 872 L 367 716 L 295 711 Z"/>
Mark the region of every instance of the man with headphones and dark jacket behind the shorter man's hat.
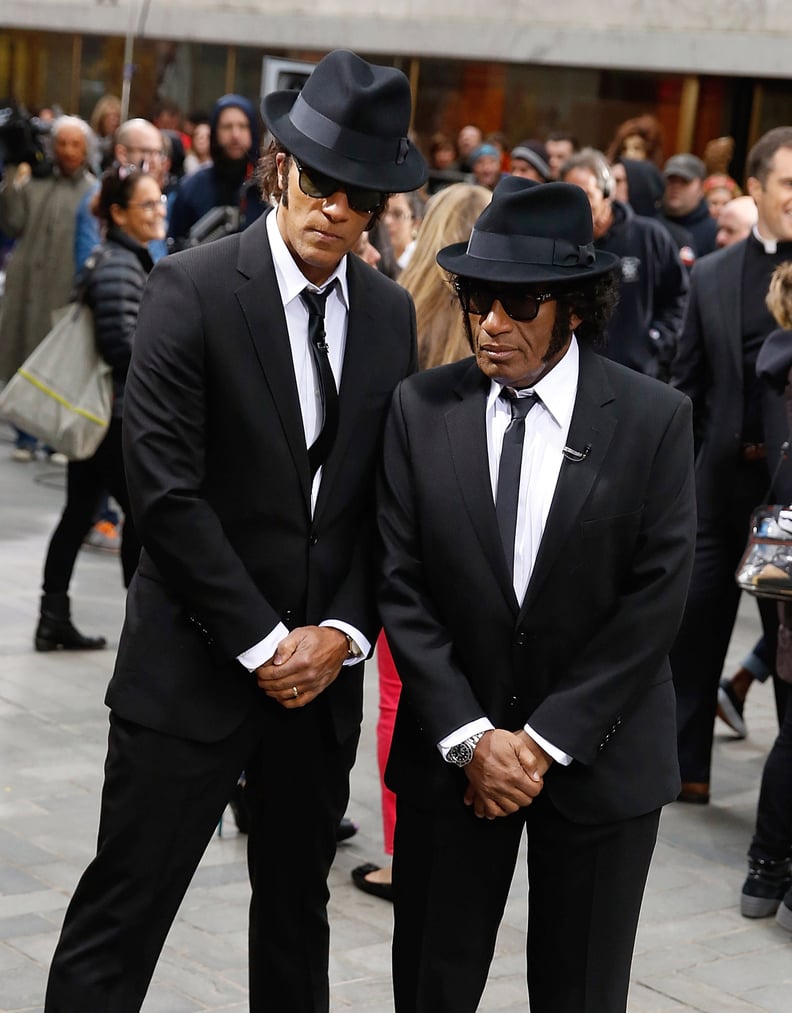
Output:
<path fill-rule="evenodd" d="M 619 305 L 608 323 L 604 354 L 659 380 L 668 378 L 688 295 L 688 272 L 665 229 L 612 198 L 604 154 L 584 148 L 561 166 L 561 179 L 585 190 L 595 246 L 621 260 Z"/>

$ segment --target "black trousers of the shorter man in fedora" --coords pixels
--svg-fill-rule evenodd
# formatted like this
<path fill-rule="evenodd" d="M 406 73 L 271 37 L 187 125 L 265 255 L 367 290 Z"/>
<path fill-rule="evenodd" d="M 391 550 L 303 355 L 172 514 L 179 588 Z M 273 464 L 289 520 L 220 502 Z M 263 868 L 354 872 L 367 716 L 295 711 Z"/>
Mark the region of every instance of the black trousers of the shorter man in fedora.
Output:
<path fill-rule="evenodd" d="M 396 1013 L 478 1008 L 524 828 L 531 1013 L 626 1009 L 659 811 L 583 826 L 546 794 L 494 821 L 461 802 L 426 811 L 399 798 L 396 811 Z"/>

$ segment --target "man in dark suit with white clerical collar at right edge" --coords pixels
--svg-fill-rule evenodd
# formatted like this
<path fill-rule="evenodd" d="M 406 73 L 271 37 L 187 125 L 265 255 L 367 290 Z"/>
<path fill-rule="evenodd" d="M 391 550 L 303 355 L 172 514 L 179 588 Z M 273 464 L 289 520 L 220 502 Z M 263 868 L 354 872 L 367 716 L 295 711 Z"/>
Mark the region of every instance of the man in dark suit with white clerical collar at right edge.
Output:
<path fill-rule="evenodd" d="M 696 564 L 671 651 L 681 798 L 694 803 L 710 797 L 718 679 L 739 604 L 734 570 L 751 511 L 765 500 L 776 471 L 778 458 L 770 459 L 767 447 L 788 435 L 783 401 L 769 396 L 756 364 L 777 327 L 765 305 L 771 276 L 792 259 L 792 127 L 760 138 L 748 152 L 745 177 L 757 225 L 741 242 L 697 261 L 671 368 L 671 384 L 693 401 L 696 431 Z M 786 480 L 789 468 L 785 464 L 776 477 Z M 771 494 L 783 494 L 778 482 Z M 765 654 L 775 658 L 776 607 L 767 600 L 759 607 Z M 785 695 L 777 686 L 780 716 Z M 734 702 L 741 709 L 741 701 Z"/>

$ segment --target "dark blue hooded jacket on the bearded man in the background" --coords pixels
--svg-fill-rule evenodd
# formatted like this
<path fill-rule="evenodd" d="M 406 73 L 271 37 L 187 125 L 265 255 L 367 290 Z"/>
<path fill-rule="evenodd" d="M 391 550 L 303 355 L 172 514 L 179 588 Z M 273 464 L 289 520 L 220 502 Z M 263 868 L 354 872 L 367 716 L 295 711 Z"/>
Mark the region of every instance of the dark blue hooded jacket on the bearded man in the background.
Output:
<path fill-rule="evenodd" d="M 250 149 L 245 159 L 229 159 L 217 139 L 217 125 L 224 109 L 241 109 L 250 125 Z M 189 230 L 213 208 L 239 208 L 239 231 L 247 228 L 264 210 L 255 178 L 258 158 L 258 126 L 251 103 L 242 95 L 223 95 L 215 104 L 210 122 L 212 164 L 182 178 L 170 209 L 168 236 L 184 245 Z"/>

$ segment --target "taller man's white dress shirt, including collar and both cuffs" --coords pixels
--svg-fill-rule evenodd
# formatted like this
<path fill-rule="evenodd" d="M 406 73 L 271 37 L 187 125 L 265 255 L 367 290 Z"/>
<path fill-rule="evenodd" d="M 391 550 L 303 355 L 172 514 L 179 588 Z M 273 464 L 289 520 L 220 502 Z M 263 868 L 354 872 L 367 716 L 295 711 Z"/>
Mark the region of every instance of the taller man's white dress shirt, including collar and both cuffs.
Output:
<path fill-rule="evenodd" d="M 319 390 L 319 378 L 314 364 L 314 358 L 308 344 L 308 310 L 300 298 L 305 288 L 313 292 L 324 292 L 331 282 L 337 285 L 327 298 L 324 311 L 325 340 L 329 346 L 328 358 L 333 371 L 336 387 L 340 387 L 343 354 L 346 347 L 346 321 L 349 315 L 349 290 L 346 285 L 346 257 L 342 257 L 335 270 L 330 275 L 321 289 L 317 289 L 297 266 L 292 254 L 284 242 L 281 230 L 278 228 L 278 212 L 266 216 L 266 233 L 269 239 L 269 249 L 275 268 L 278 290 L 286 313 L 286 325 L 289 330 L 289 341 L 292 346 L 292 362 L 295 369 L 295 380 L 300 397 L 300 410 L 303 415 L 305 445 L 310 447 L 319 435 L 322 424 L 322 397 Z M 319 486 L 322 480 L 322 469 L 314 475 L 311 486 L 311 512 L 316 509 Z M 340 619 L 324 619 L 320 626 L 332 626 L 342 633 L 348 634 L 361 648 L 363 657 L 371 651 L 371 643 L 360 630 Z M 283 623 L 254 644 L 243 651 L 237 660 L 249 671 L 268 661 L 274 654 L 278 644 L 289 633 Z M 357 665 L 361 658 L 347 658 L 344 665 Z"/>

